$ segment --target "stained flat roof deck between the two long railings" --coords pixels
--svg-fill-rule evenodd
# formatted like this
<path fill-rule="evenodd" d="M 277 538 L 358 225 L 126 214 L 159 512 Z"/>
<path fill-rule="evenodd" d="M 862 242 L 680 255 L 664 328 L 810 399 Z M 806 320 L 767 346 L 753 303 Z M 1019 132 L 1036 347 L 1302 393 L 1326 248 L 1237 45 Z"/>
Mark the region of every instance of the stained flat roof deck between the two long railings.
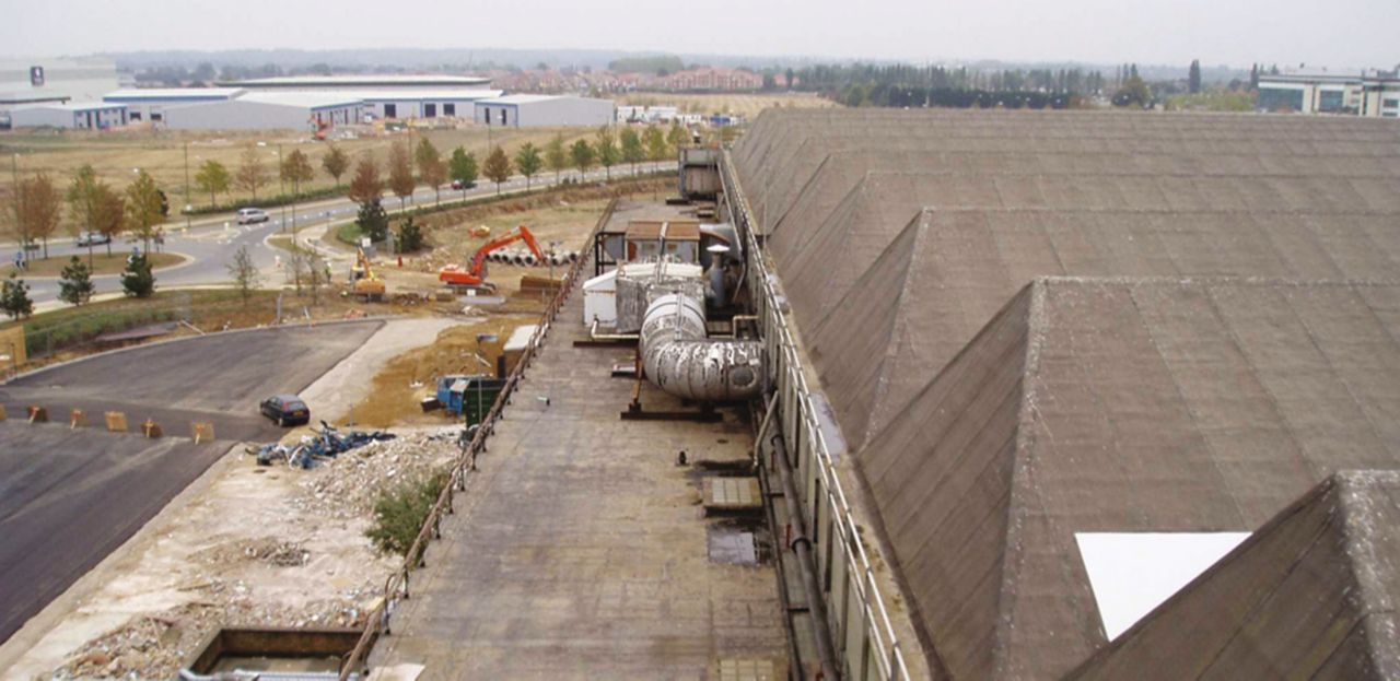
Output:
<path fill-rule="evenodd" d="M 725 522 L 703 516 L 707 467 L 676 466 L 682 449 L 692 464 L 745 461 L 749 426 L 728 411 L 620 421 L 634 383 L 609 372 L 633 351 L 574 348 L 581 319 L 575 289 L 371 666 L 423 664 L 424 681 L 785 668 L 774 569 L 710 561 L 707 534 Z M 650 386 L 643 401 L 680 408 Z"/>

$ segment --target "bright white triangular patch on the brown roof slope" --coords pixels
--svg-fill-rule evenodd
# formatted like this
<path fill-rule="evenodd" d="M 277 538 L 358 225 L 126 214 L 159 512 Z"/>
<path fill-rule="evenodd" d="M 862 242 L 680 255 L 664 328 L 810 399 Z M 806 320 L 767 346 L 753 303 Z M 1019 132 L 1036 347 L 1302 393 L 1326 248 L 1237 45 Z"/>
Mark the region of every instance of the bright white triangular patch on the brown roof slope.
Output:
<path fill-rule="evenodd" d="M 1109 640 L 1147 617 L 1247 537 L 1247 531 L 1074 534 Z"/>

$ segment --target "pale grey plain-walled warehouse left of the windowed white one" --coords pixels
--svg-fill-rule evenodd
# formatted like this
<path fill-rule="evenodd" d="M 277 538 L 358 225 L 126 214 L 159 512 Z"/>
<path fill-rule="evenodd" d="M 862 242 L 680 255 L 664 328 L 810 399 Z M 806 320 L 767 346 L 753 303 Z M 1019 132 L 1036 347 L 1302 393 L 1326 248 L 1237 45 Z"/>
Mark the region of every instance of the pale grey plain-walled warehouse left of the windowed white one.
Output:
<path fill-rule="evenodd" d="M 309 130 L 358 122 L 363 102 L 335 92 L 248 92 L 167 109 L 172 130 Z"/>

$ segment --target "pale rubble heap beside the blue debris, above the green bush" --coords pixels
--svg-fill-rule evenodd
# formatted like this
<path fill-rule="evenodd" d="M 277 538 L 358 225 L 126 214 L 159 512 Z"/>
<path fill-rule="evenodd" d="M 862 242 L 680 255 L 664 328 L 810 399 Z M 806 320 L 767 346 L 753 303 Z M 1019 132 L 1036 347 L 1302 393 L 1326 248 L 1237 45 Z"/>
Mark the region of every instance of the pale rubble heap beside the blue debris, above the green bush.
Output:
<path fill-rule="evenodd" d="M 301 495 L 291 505 L 322 517 L 367 517 L 379 492 L 419 480 L 452 461 L 461 428 L 416 432 L 370 442 L 305 471 Z"/>

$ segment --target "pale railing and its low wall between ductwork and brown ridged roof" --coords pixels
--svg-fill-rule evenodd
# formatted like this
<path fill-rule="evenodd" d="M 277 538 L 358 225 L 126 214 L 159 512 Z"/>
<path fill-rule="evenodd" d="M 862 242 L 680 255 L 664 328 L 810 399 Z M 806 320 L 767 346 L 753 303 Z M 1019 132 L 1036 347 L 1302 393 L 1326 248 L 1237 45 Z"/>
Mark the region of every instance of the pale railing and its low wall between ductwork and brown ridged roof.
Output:
<path fill-rule="evenodd" d="M 806 484 L 813 474 L 820 482 L 819 489 L 815 489 L 820 506 L 811 503 L 811 499 L 804 503 L 804 509 L 816 516 L 806 520 L 818 537 L 827 534 L 827 541 L 836 544 L 837 555 L 844 562 L 844 571 L 825 565 L 825 569 L 832 571 L 827 611 L 833 619 L 837 619 L 832 622 L 833 638 L 837 639 L 833 640 L 833 645 L 841 652 L 840 657 L 846 660 L 846 671 L 851 678 L 909 680 L 904 653 L 885 608 L 885 600 L 881 597 L 875 569 L 861 544 L 851 506 L 833 464 L 830 447 L 822 433 L 812 400 L 813 392 L 808 386 L 806 373 L 802 369 L 804 362 L 798 345 L 792 340 L 792 331 L 780 309 L 776 277 L 770 275 L 764 252 L 753 234 L 752 213 L 748 199 L 739 190 L 739 183 L 734 176 L 729 150 L 724 150 L 720 182 L 728 199 L 734 225 L 742 235 L 748 250 L 749 289 L 755 294 L 753 305 L 757 308 L 757 316 L 763 320 L 764 341 L 773 358 L 766 364 L 771 368 L 774 383 L 778 386 L 778 403 L 787 411 L 780 424 L 795 418 L 791 425 L 795 432 L 791 435 L 795 435 L 792 439 L 797 442 L 791 442 L 788 449 L 797 452 L 798 457 L 809 457 L 809 460 L 799 459 L 797 466 L 804 478 L 802 489 L 813 487 Z M 813 492 L 808 492 L 808 495 L 811 496 Z M 825 506 L 825 513 L 822 513 L 822 506 Z M 839 576 L 844 583 L 837 579 Z M 834 597 L 836 594 L 844 596 Z M 865 639 L 851 629 L 853 622 L 848 618 L 851 610 L 860 615 L 858 624 L 871 643 L 869 649 L 864 646 Z M 875 668 L 869 668 L 868 660 L 875 661 Z"/>

